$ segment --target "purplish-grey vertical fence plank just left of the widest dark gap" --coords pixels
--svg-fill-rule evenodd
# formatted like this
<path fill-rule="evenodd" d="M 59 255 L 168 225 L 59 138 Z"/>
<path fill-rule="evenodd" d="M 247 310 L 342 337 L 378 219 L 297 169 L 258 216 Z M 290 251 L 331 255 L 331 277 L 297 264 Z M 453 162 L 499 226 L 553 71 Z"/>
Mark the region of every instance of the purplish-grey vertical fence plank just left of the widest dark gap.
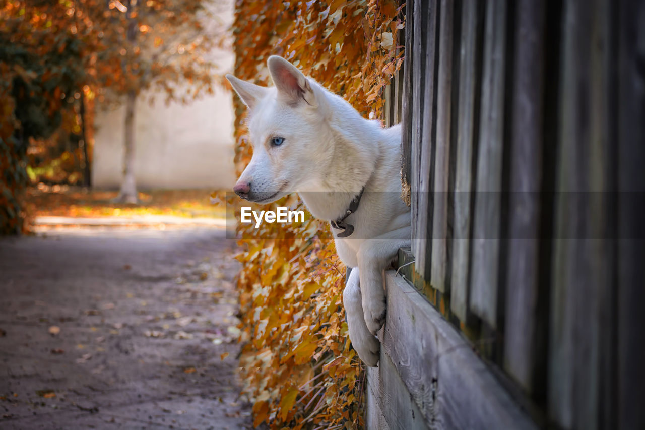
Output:
<path fill-rule="evenodd" d="M 536 355 L 544 0 L 517 3 L 504 369 L 529 393 Z"/>

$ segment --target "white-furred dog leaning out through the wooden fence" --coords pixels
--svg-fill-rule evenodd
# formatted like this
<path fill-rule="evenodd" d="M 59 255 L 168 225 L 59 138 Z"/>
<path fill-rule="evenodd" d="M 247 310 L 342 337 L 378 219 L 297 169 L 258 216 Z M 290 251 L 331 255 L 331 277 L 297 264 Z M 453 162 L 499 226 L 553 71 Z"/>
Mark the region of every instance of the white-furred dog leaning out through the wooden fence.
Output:
<path fill-rule="evenodd" d="M 386 314 L 384 269 L 410 244 L 410 210 L 399 198 L 401 127 L 362 118 L 281 57 L 270 57 L 268 68 L 275 87 L 226 76 L 251 111 L 253 157 L 237 184 L 249 185 L 246 198 L 259 203 L 297 191 L 313 216 L 329 221 L 342 218 L 364 187 L 346 219 L 353 234 L 332 232 L 339 257 L 353 268 L 343 293 L 350 340 L 361 360 L 375 366 L 375 334 Z M 274 146 L 274 137 L 284 142 Z"/>

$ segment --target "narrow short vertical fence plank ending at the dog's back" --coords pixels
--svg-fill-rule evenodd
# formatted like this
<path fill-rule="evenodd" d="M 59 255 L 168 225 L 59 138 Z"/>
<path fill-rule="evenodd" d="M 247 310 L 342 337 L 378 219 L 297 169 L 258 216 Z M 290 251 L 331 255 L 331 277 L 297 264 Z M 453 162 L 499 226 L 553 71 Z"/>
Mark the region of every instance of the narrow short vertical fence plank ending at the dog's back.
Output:
<path fill-rule="evenodd" d="M 412 70 L 414 68 L 414 57 L 412 55 L 414 19 L 412 10 L 412 2 L 409 2 L 405 6 L 405 59 L 401 75 L 401 198 L 408 206 L 411 204 L 410 192 L 412 190 Z"/>

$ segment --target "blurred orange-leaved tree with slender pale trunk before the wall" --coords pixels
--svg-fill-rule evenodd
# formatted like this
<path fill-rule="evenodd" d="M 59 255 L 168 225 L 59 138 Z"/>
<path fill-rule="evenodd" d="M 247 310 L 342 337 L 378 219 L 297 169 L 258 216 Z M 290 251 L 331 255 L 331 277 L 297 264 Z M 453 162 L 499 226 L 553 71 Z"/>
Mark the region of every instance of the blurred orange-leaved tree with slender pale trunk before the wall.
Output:
<path fill-rule="evenodd" d="M 183 102 L 212 93 L 217 81 L 208 54 L 223 46 L 225 30 L 217 21 L 218 6 L 206 0 L 110 0 L 107 11 L 93 11 L 104 44 L 97 57 L 97 87 L 102 96 L 125 104 L 118 200 L 137 201 L 134 123 L 141 93 L 163 90 L 166 101 Z"/>

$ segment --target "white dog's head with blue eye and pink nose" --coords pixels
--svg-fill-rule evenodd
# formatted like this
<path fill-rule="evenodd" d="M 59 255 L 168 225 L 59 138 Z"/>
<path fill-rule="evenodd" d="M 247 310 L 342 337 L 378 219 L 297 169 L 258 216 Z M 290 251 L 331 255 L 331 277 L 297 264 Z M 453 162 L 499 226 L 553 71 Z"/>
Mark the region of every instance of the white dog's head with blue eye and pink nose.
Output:
<path fill-rule="evenodd" d="M 242 198 L 269 203 L 313 183 L 331 157 L 324 90 L 291 63 L 269 57 L 275 87 L 226 75 L 250 109 L 253 157 L 233 187 Z"/>

